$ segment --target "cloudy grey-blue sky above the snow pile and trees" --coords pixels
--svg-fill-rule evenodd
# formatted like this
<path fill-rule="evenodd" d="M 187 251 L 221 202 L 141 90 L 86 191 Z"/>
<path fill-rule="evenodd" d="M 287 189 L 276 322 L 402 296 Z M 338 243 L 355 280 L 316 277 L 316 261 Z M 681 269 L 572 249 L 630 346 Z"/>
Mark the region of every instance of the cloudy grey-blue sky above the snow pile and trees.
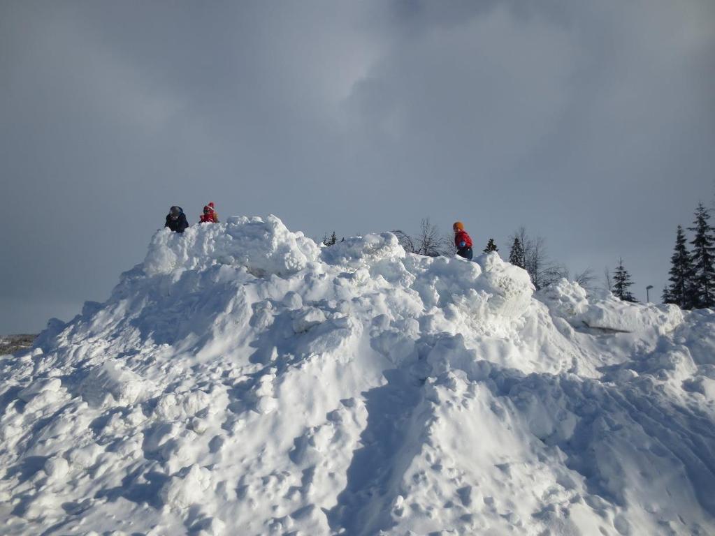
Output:
<path fill-rule="evenodd" d="M 1 0 L 0 73 L 0 333 L 105 300 L 174 204 L 526 226 L 657 300 L 715 202 L 711 0 Z"/>

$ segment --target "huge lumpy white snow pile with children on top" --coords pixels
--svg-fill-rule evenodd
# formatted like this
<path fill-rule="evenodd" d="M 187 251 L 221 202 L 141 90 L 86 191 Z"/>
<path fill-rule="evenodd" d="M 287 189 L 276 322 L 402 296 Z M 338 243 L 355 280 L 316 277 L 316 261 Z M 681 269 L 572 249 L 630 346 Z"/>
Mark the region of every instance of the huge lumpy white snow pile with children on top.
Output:
<path fill-rule="evenodd" d="M 715 534 L 714 350 L 495 253 L 158 231 L 0 358 L 0 532 Z"/>

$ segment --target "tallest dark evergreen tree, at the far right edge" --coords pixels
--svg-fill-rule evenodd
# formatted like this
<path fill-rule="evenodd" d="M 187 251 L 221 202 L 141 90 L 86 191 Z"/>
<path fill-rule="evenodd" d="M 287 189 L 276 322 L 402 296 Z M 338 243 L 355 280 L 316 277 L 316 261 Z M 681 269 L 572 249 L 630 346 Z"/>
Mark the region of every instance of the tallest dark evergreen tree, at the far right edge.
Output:
<path fill-rule="evenodd" d="M 709 225 L 710 214 L 703 203 L 695 210 L 693 245 L 693 293 L 694 307 L 715 306 L 715 229 Z"/>

